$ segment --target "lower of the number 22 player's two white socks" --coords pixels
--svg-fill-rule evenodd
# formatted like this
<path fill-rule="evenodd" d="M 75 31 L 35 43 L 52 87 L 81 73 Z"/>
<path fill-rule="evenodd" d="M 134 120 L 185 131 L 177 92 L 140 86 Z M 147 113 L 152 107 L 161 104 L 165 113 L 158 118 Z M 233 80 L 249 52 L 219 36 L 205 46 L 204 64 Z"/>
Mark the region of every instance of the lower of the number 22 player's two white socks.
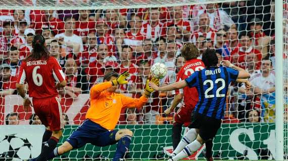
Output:
<path fill-rule="evenodd" d="M 172 157 L 173 161 L 181 160 L 187 156 L 192 155 L 195 151 L 197 151 L 202 144 L 198 140 L 194 140 L 193 142 L 189 143 L 185 148 L 179 152 L 176 156 Z"/>

